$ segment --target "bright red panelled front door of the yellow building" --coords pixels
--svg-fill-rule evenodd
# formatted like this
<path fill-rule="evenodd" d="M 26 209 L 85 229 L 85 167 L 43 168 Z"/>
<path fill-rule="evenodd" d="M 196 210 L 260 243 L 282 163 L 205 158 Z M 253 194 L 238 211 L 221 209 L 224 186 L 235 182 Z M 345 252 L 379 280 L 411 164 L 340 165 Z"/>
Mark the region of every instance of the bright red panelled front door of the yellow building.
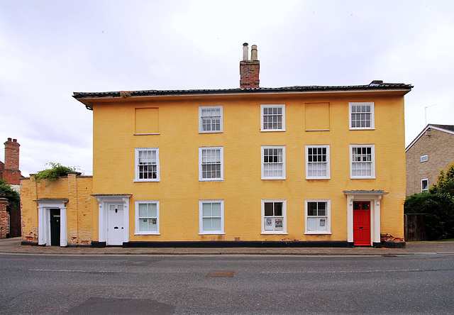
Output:
<path fill-rule="evenodd" d="M 370 201 L 353 202 L 353 243 L 370 246 Z"/>

